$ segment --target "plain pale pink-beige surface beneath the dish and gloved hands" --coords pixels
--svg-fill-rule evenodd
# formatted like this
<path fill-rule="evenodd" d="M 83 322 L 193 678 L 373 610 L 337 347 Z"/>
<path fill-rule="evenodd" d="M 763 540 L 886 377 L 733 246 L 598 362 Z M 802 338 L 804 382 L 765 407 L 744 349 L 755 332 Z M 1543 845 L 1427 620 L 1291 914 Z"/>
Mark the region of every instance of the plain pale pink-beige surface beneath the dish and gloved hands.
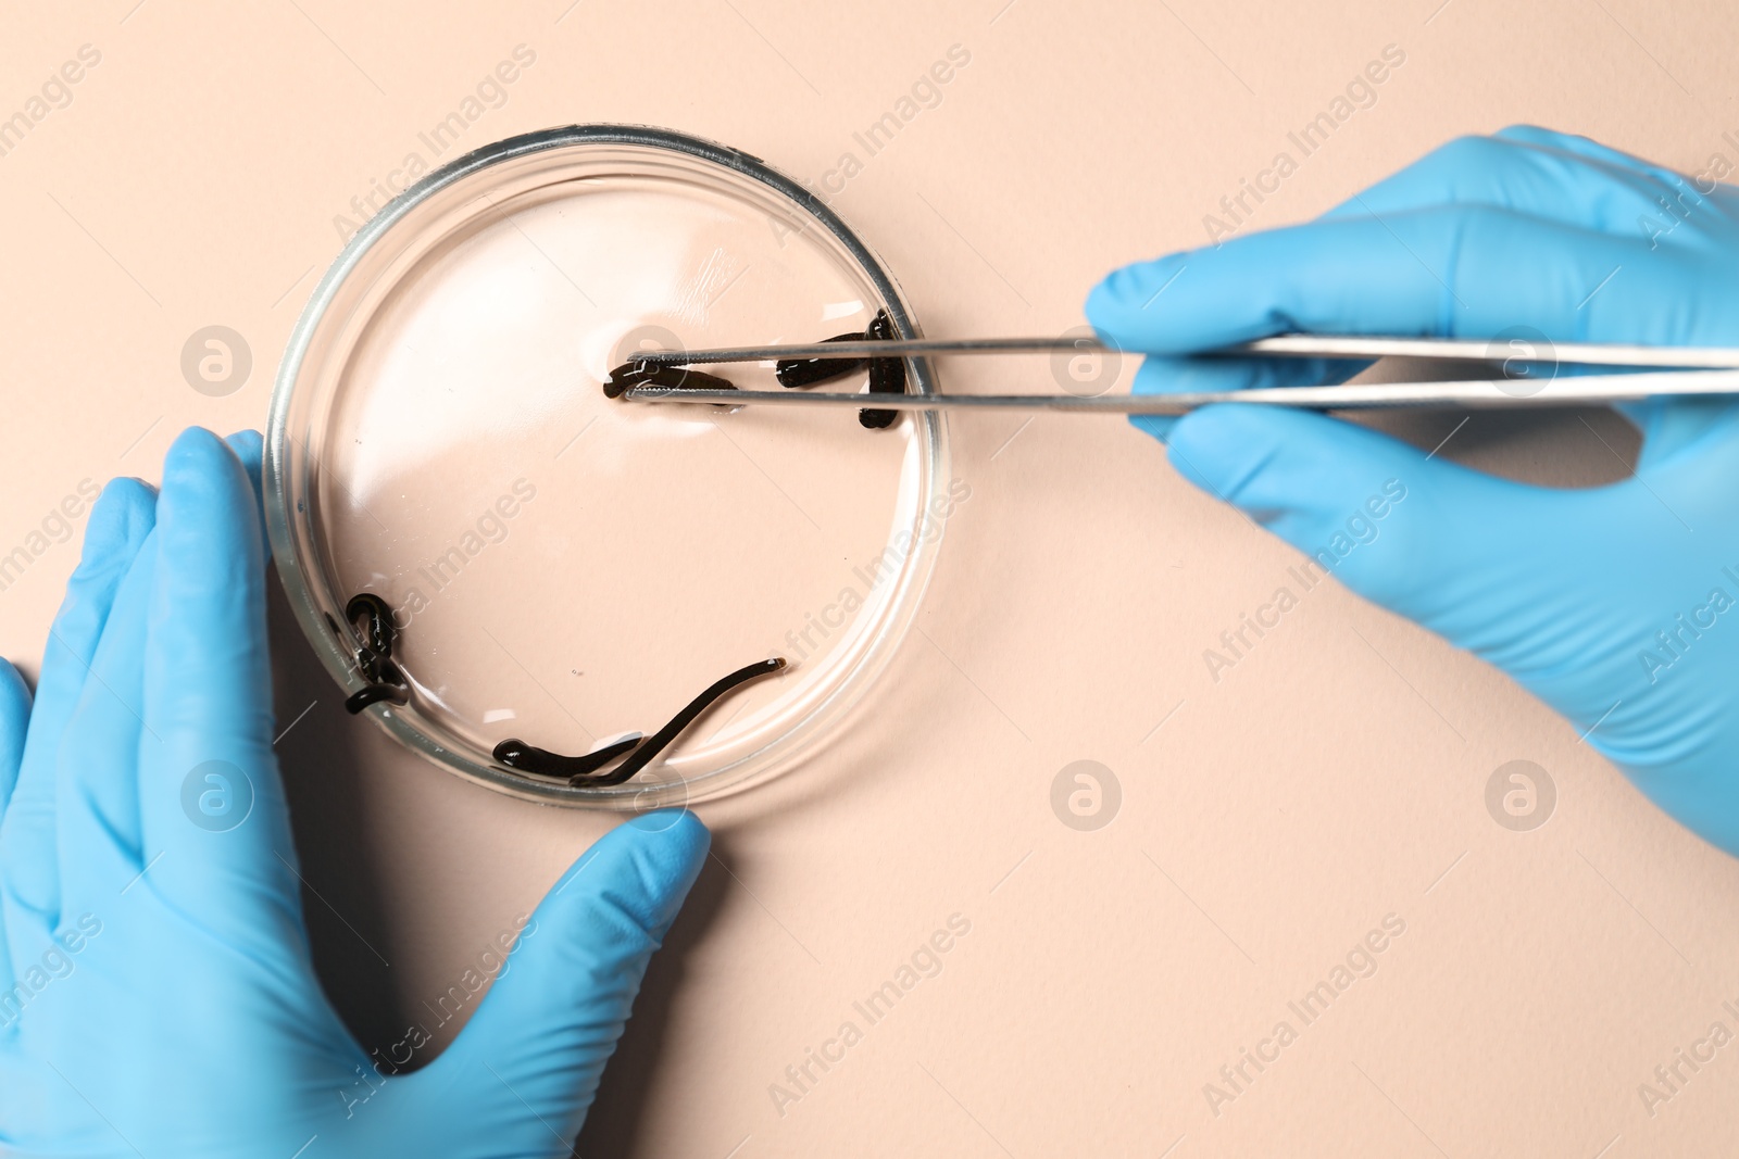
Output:
<path fill-rule="evenodd" d="M 153 478 L 188 424 L 259 426 L 339 248 L 334 217 L 407 153 L 428 158 L 419 134 L 516 45 L 536 63 L 478 106 L 463 148 L 636 122 L 812 182 L 854 151 L 861 172 L 828 195 L 925 328 L 1010 334 L 1075 325 L 1108 268 L 1202 243 L 1221 196 L 1386 45 L 1405 64 L 1249 228 L 1516 120 L 1690 170 L 1734 158 L 1736 31 L 1722 5 L 1642 0 L 19 9 L 0 116 L 80 45 L 101 63 L 0 156 L 0 551 L 85 478 Z M 970 63 L 941 103 L 866 156 L 852 134 L 951 45 Z M 214 323 L 254 356 L 226 398 L 179 368 Z M 1734 1050 L 1652 1117 L 1636 1088 L 1711 1022 L 1739 1025 L 1722 1008 L 1739 1004 L 1739 867 L 1508 679 L 1334 586 L 1214 683 L 1202 650 L 1294 556 L 1120 422 L 1023 422 L 953 426 L 974 499 L 873 723 L 703 808 L 715 858 L 581 1150 L 1617 1157 L 1732 1138 Z M 1435 443 L 1452 422 L 1409 431 Z M 1558 483 L 1624 469 L 1562 415 L 1475 422 L 1443 454 Z M 75 558 L 77 537 L 47 544 L 0 591 L 7 655 L 40 652 Z M 393 751 L 343 714 L 282 612 L 280 723 L 313 704 L 280 752 L 316 956 L 384 1046 L 612 822 Z M 1558 789 L 1525 834 L 1483 803 L 1515 758 Z M 1050 810 L 1076 759 L 1123 789 L 1097 832 Z M 769 1086 L 951 914 L 970 933 L 941 973 L 781 1116 Z M 1388 914 L 1405 933 L 1377 971 L 1294 1022 L 1297 1041 L 1216 1116 L 1203 1084 Z"/>

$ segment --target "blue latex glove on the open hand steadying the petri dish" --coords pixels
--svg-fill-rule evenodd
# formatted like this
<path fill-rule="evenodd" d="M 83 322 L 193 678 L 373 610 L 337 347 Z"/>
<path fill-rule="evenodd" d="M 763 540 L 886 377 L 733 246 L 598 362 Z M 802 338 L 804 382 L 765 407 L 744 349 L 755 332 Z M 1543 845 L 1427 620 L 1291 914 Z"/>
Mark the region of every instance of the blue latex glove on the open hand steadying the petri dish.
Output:
<path fill-rule="evenodd" d="M 565 1157 L 706 829 L 598 841 L 457 1041 L 383 1077 L 310 961 L 257 474 L 257 436 L 188 431 L 162 495 L 111 483 L 35 705 L 0 662 L 0 1152 Z"/>

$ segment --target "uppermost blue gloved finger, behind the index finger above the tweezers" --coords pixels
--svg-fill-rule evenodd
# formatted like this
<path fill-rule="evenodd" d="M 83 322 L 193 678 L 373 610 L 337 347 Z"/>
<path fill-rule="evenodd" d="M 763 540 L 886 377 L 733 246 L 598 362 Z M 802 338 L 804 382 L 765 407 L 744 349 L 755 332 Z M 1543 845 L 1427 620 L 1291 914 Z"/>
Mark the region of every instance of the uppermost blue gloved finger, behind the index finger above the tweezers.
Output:
<path fill-rule="evenodd" d="M 1544 130 L 1542 130 L 1544 132 Z M 1497 137 L 1457 137 L 1330 209 L 1320 221 L 1391 215 L 1442 205 L 1485 205 L 1563 226 L 1640 236 L 1638 215 L 1659 215 L 1659 200 L 1683 188 L 1683 177 L 1635 158 L 1622 162 L 1553 139 L 1529 141 L 1508 130 Z M 1671 181 L 1662 184 L 1666 174 Z M 1675 186 L 1676 182 L 1676 186 Z"/>

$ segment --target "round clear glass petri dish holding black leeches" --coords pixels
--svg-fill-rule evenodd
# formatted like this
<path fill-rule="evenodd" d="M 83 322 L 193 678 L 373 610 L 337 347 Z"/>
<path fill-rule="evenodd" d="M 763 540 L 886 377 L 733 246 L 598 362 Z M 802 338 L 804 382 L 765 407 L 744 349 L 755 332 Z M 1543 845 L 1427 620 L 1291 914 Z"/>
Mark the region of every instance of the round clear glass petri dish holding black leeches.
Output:
<path fill-rule="evenodd" d="M 878 311 L 918 337 L 833 212 L 708 141 L 576 125 L 431 172 L 337 257 L 278 370 L 266 523 L 303 631 L 356 693 L 367 622 L 346 606 L 381 599 L 409 688 L 363 712 L 520 798 L 642 810 L 790 770 L 913 622 L 969 493 L 944 419 L 864 429 L 850 412 L 612 401 L 602 382 L 640 348 L 816 341 Z M 708 370 L 779 389 L 770 365 Z M 906 374 L 932 389 L 923 360 Z M 770 657 L 788 667 L 621 785 L 494 756 L 652 733 Z"/>

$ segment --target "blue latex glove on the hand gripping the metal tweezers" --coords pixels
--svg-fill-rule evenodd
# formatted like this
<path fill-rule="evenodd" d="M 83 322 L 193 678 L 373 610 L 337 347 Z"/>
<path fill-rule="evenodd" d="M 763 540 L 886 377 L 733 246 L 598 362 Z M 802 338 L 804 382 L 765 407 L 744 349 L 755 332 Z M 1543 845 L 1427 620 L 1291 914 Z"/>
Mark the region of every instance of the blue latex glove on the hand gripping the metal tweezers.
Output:
<path fill-rule="evenodd" d="M 1736 269 L 1734 189 L 1518 127 L 1447 144 L 1315 222 L 1120 269 L 1087 316 L 1158 354 L 1137 391 L 1238 389 L 1356 365 L 1167 356 L 1287 330 L 1734 346 Z M 1143 426 L 1186 478 L 1509 672 L 1739 853 L 1739 405 L 1622 410 L 1645 440 L 1636 476 L 1591 490 L 1497 480 L 1318 414 Z M 1589 438 L 1589 454 L 1609 452 Z M 1377 521 L 1365 506 L 1391 480 L 1405 499 Z M 1365 525 L 1379 539 L 1360 544 Z"/>

